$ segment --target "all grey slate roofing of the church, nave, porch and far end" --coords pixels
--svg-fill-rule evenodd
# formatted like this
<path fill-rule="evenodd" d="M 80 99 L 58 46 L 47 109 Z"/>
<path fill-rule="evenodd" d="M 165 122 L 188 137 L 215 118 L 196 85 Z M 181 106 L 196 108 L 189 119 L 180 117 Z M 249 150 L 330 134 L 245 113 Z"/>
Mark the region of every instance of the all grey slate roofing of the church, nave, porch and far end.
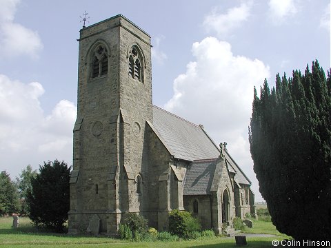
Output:
<path fill-rule="evenodd" d="M 220 151 L 203 128 L 154 105 L 152 126 L 172 156 L 192 162 L 185 174 L 183 194 L 210 194 Z M 225 159 L 234 180 L 250 185 L 228 152 Z"/>

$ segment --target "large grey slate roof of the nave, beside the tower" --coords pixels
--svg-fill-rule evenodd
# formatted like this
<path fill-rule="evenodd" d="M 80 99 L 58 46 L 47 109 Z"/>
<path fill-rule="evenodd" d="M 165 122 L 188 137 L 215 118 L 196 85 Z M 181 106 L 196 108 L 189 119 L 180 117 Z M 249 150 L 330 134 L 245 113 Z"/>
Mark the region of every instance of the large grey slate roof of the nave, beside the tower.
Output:
<path fill-rule="evenodd" d="M 194 161 L 219 156 L 219 149 L 199 125 L 157 106 L 153 106 L 153 125 L 175 158 Z"/>

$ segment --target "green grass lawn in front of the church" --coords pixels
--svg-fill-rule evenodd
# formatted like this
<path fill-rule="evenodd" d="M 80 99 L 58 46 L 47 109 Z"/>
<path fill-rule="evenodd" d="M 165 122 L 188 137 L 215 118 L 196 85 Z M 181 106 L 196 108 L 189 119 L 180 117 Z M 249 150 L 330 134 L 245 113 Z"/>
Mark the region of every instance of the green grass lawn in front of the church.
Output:
<path fill-rule="evenodd" d="M 28 218 L 19 218 L 19 227 L 14 229 L 12 218 L 0 218 L 0 248 L 5 247 L 237 247 L 234 238 L 215 237 L 204 240 L 188 240 L 177 242 L 128 242 L 116 238 L 68 236 L 66 234 L 52 234 L 39 231 L 32 227 Z M 245 230 L 247 233 L 274 234 L 277 237 L 248 237 L 246 247 L 273 247 L 272 240 L 288 238 L 280 234 L 272 223 L 254 221 L 254 228 Z"/>

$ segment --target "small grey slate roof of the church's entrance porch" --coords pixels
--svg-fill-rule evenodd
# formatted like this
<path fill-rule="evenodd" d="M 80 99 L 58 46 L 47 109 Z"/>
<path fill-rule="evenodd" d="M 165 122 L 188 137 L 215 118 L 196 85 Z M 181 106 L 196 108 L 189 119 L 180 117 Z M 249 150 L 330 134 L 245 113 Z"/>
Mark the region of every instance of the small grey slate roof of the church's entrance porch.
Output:
<path fill-rule="evenodd" d="M 183 184 L 183 195 L 210 194 L 217 159 L 194 161 L 188 167 Z"/>

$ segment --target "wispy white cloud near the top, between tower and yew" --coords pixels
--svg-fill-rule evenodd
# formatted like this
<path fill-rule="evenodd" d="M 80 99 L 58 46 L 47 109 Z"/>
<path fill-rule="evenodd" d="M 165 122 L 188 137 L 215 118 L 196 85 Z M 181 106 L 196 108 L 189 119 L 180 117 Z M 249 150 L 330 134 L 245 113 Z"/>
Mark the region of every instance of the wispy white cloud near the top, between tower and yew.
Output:
<path fill-rule="evenodd" d="M 252 1 L 241 3 L 241 6 L 230 8 L 225 14 L 219 13 L 220 8 L 214 8 L 212 12 L 205 17 L 203 25 L 209 32 L 213 31 L 216 32 L 219 37 L 224 37 L 248 19 L 251 6 Z"/>

